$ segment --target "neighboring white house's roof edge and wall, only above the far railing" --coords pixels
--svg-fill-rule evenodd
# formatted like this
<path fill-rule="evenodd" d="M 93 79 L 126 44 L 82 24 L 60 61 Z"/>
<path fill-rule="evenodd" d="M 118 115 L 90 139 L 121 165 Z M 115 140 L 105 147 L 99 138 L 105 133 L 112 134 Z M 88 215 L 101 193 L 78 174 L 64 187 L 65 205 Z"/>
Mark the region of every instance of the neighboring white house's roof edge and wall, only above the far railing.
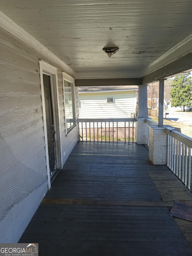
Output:
<path fill-rule="evenodd" d="M 136 112 L 138 86 L 78 87 L 79 118 L 130 118 Z"/>

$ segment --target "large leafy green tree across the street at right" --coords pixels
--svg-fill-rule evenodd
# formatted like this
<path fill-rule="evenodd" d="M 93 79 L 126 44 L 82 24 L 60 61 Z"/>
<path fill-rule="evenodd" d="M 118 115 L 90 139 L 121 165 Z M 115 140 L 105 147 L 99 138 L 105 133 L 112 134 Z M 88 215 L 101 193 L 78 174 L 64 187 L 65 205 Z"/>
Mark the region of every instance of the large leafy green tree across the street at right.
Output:
<path fill-rule="evenodd" d="M 181 107 L 183 109 L 190 104 L 192 79 L 188 74 L 176 76 L 171 84 L 171 106 Z M 184 110 L 183 110 L 184 111 Z"/>

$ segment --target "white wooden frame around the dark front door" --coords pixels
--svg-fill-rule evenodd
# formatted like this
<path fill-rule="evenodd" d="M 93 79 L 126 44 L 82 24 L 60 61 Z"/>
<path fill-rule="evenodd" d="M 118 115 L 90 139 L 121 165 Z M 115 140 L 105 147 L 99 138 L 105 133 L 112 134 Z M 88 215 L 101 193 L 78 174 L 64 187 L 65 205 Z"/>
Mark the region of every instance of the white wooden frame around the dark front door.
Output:
<path fill-rule="evenodd" d="M 50 77 L 53 122 L 54 122 L 55 131 L 56 131 L 56 134 L 55 134 L 55 164 L 56 164 L 56 168 L 60 169 L 62 167 L 62 158 L 61 158 L 62 148 L 61 148 L 61 125 L 60 125 L 60 113 L 59 113 L 58 78 L 57 78 L 57 68 L 55 68 L 54 66 L 50 65 L 49 63 L 47 63 L 43 60 L 39 61 L 39 66 L 40 66 L 40 78 L 41 78 L 41 97 L 42 97 L 43 121 L 44 121 L 47 179 L 48 179 L 48 189 L 50 189 L 51 188 L 51 179 L 50 179 L 50 171 L 49 171 L 49 152 L 48 152 L 48 141 L 47 141 L 43 74 L 46 74 Z"/>

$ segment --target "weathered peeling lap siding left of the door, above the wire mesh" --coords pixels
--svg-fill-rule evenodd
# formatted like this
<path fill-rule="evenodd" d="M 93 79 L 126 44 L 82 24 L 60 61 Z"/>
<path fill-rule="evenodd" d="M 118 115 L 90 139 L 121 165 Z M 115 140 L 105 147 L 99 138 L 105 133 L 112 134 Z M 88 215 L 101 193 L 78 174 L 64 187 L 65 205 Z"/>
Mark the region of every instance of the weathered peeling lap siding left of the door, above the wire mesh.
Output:
<path fill-rule="evenodd" d="M 0 36 L 0 132 L 19 161 L 45 176 L 39 59 L 4 37 Z"/>

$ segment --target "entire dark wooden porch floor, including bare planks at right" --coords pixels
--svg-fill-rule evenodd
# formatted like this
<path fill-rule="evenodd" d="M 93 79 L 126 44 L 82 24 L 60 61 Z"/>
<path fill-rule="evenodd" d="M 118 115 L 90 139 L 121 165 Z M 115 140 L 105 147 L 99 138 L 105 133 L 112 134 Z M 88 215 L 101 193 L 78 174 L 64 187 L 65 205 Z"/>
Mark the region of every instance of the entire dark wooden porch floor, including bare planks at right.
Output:
<path fill-rule="evenodd" d="M 191 192 L 148 155 L 143 145 L 78 142 L 19 242 L 39 243 L 41 256 L 191 256 L 191 222 L 168 215 Z"/>

